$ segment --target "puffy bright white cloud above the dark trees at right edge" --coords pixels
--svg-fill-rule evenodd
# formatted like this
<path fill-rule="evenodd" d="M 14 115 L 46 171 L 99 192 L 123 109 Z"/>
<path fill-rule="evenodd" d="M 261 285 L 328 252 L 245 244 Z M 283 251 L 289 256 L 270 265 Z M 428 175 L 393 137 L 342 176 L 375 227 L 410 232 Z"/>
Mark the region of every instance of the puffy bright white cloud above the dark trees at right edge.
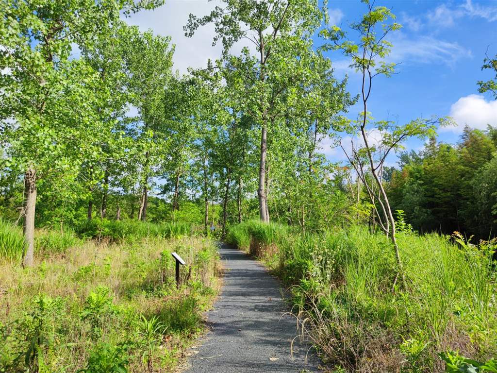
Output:
<path fill-rule="evenodd" d="M 497 126 L 497 101 L 487 101 L 482 95 L 470 94 L 452 104 L 450 116 L 454 118 L 457 126 L 442 130 L 461 132 L 466 124 L 478 129 L 486 129 L 487 124 Z"/>

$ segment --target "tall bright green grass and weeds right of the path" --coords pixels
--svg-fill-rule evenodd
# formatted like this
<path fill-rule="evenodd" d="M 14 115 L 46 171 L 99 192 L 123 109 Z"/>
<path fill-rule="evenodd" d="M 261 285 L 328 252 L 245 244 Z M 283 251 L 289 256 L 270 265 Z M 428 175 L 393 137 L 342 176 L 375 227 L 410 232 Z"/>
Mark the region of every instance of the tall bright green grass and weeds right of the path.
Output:
<path fill-rule="evenodd" d="M 232 227 L 229 240 L 295 285 L 300 330 L 337 371 L 437 372 L 447 350 L 496 356 L 496 272 L 484 255 L 492 247 L 399 234 L 403 292 L 393 289 L 389 240 L 365 227 L 302 236 L 250 221 Z"/>

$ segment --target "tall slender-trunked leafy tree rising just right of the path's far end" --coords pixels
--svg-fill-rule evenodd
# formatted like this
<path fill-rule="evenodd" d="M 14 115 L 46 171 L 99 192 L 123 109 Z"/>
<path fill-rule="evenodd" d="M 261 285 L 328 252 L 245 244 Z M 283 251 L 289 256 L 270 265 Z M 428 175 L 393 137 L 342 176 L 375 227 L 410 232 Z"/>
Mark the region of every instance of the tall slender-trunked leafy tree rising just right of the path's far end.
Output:
<path fill-rule="evenodd" d="M 186 36 L 192 36 L 201 25 L 214 23 L 216 35 L 213 44 L 220 39 L 224 57 L 230 60 L 231 47 L 249 40 L 256 53 L 248 48 L 231 65 L 240 71 L 246 82 L 244 95 L 247 100 L 246 113 L 251 115 L 260 129 L 260 156 L 257 195 L 259 215 L 269 221 L 267 208 L 267 134 L 271 119 L 281 114 L 278 100 L 282 91 L 295 84 L 296 77 L 303 74 L 287 64 L 298 60 L 302 49 L 308 47 L 311 36 L 319 27 L 322 13 L 317 0 L 225 0 L 224 7 L 215 9 L 204 17 L 190 14 L 184 27 Z"/>

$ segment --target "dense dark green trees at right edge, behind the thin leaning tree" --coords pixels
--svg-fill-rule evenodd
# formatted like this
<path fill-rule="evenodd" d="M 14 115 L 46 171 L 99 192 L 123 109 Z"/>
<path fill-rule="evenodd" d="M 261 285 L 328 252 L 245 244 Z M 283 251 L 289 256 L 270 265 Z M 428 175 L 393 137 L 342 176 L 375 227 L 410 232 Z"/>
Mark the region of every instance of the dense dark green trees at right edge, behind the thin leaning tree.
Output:
<path fill-rule="evenodd" d="M 419 232 L 497 235 L 497 128 L 464 128 L 456 145 L 431 138 L 424 149 L 400 156 L 389 169 L 392 205 Z"/>

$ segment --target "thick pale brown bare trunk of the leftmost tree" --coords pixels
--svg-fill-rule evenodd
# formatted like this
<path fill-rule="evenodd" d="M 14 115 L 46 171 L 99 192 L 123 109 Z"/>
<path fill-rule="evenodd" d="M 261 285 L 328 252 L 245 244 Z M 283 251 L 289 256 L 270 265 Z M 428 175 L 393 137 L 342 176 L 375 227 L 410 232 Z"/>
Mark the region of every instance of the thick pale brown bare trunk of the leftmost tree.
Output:
<path fill-rule="evenodd" d="M 26 252 L 22 266 L 31 267 L 34 264 L 34 216 L 36 211 L 36 172 L 32 167 L 29 167 L 24 174 L 24 199 L 26 200 L 24 210 Z"/>

